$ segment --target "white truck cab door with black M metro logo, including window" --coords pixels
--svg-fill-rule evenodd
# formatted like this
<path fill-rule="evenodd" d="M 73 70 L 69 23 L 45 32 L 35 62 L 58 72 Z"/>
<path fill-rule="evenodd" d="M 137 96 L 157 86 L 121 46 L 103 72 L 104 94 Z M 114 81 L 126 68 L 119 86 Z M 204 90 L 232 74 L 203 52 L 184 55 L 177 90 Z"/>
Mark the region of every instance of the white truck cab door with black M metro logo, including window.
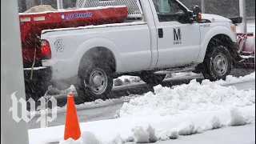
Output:
<path fill-rule="evenodd" d="M 195 62 L 200 51 L 198 23 L 186 22 L 186 7 L 175 0 L 153 0 L 153 3 L 152 12 L 158 30 L 157 67 Z"/>

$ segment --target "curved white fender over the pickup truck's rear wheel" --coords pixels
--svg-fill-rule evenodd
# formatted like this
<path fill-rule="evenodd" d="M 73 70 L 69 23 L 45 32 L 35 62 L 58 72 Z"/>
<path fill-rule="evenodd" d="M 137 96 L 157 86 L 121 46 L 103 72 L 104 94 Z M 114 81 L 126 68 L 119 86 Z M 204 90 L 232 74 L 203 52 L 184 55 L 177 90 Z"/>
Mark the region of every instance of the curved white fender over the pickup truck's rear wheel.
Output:
<path fill-rule="evenodd" d="M 120 61 L 120 52 L 118 51 L 117 46 L 115 46 L 114 42 L 111 42 L 108 38 L 89 38 L 86 41 L 82 42 L 78 49 L 74 53 L 74 62 L 77 64 L 75 70 L 78 70 L 79 63 L 82 59 L 82 56 L 86 54 L 86 52 L 94 47 L 104 47 L 110 50 L 114 55 L 114 60 L 116 62 L 116 70 L 118 67 L 122 66 Z"/>

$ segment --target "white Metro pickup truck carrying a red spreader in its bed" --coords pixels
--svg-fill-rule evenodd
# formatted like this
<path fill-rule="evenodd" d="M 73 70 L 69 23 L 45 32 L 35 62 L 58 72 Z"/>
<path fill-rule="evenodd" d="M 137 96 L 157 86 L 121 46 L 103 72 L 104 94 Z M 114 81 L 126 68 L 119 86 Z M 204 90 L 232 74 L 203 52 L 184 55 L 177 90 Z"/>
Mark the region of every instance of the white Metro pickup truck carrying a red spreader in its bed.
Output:
<path fill-rule="evenodd" d="M 109 98 L 113 78 L 136 75 L 159 83 L 167 73 L 194 71 L 225 79 L 237 57 L 235 25 L 229 18 L 189 10 L 178 0 L 138 0 L 134 22 L 43 30 L 52 82 L 74 84 L 85 101 Z M 45 57 L 46 58 L 46 57 Z"/>

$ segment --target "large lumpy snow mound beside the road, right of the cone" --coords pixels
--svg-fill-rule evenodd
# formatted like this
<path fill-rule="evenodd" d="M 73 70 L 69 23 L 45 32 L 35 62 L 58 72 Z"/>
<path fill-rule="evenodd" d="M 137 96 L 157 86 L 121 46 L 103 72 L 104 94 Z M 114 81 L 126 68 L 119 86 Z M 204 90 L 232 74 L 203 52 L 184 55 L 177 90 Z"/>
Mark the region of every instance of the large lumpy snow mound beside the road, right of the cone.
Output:
<path fill-rule="evenodd" d="M 154 93 L 131 99 L 118 110 L 118 118 L 163 116 L 193 113 L 195 110 L 219 110 L 226 106 L 251 106 L 255 103 L 255 90 L 237 90 L 234 86 L 220 86 L 209 80 L 202 84 L 192 80 L 174 89 L 154 86 Z"/>

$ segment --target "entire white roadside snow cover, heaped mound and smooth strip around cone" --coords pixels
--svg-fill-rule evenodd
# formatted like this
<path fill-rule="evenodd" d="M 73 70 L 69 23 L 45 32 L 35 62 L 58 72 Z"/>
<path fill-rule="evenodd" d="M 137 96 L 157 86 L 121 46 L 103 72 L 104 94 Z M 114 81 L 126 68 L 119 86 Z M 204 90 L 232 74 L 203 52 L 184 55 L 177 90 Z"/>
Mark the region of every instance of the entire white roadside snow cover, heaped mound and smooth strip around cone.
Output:
<path fill-rule="evenodd" d="M 115 119 L 80 123 L 82 138 L 76 142 L 62 141 L 65 126 L 54 126 L 29 130 L 30 143 L 122 144 L 175 138 L 178 141 L 183 135 L 251 124 L 255 122 L 255 90 L 222 86 L 249 79 L 255 79 L 255 73 L 241 78 L 229 76 L 226 81 L 204 80 L 200 84 L 192 80 L 172 88 L 155 86 L 154 93 L 125 103 Z"/>

